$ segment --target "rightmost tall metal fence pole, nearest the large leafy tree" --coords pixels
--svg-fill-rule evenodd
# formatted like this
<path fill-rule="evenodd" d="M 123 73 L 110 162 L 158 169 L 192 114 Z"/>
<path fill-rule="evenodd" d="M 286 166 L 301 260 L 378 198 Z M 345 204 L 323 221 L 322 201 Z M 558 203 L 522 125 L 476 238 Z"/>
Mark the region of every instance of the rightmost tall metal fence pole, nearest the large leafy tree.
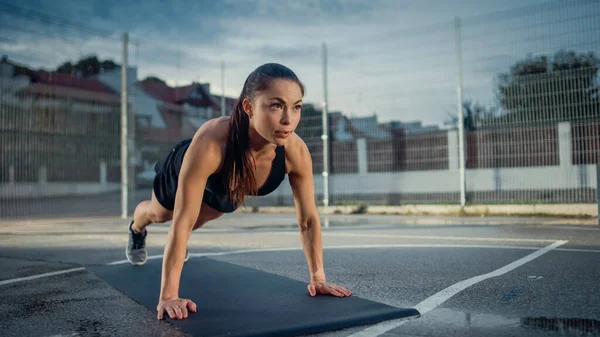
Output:
<path fill-rule="evenodd" d="M 458 82 L 456 84 L 456 94 L 458 99 L 458 163 L 460 173 L 460 205 L 466 204 L 466 170 L 465 170 L 465 136 L 464 136 L 464 117 L 462 105 L 462 46 L 460 33 L 460 18 L 455 18 L 456 34 L 456 63 L 458 65 Z"/>

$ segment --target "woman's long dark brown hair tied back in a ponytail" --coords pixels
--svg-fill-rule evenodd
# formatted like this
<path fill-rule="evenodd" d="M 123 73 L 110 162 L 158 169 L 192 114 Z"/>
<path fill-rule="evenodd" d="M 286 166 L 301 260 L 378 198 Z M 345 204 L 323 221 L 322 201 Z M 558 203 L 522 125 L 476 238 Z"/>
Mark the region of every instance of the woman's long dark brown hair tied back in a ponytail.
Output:
<path fill-rule="evenodd" d="M 287 79 L 296 82 L 304 96 L 302 82 L 291 69 L 281 64 L 264 64 L 256 68 L 246 79 L 229 120 L 229 135 L 223 163 L 224 170 L 227 173 L 224 184 L 229 186 L 229 198 L 236 205 L 242 204 L 247 195 L 256 195 L 258 192 L 254 175 L 254 158 L 250 153 L 248 134 L 250 119 L 244 111 L 242 102 L 245 98 L 253 101 L 256 92 L 266 89 L 273 79 Z"/>

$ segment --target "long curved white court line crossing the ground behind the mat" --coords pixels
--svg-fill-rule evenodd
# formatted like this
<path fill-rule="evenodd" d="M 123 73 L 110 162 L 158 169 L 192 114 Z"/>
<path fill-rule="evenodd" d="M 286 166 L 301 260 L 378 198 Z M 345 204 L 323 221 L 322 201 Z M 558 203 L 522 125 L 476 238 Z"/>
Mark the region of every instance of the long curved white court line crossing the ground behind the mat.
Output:
<path fill-rule="evenodd" d="M 382 244 L 382 245 L 348 245 L 348 246 L 328 246 L 323 247 L 324 250 L 329 249 L 368 249 L 368 248 L 490 248 L 490 249 L 524 249 L 524 250 L 537 250 L 539 247 L 526 247 L 526 246 L 494 246 L 494 245 L 447 245 L 447 244 Z M 281 251 L 294 251 L 302 250 L 302 247 L 284 247 L 284 248 L 259 248 L 259 249 L 244 249 L 244 250 L 233 250 L 225 252 L 210 252 L 210 253 L 190 253 L 191 257 L 204 257 L 204 256 L 223 256 L 233 254 L 244 254 L 244 253 L 259 253 L 259 252 L 281 252 Z M 600 253 L 600 250 L 586 250 L 586 249 L 570 249 L 570 248 L 557 248 L 555 251 L 569 251 L 569 252 L 586 252 L 586 253 Z M 160 259 L 161 255 L 148 256 L 148 260 Z M 119 265 L 129 263 L 128 260 L 119 260 L 107 263 L 106 265 Z M 59 274 L 72 273 L 85 269 L 85 267 L 67 269 L 57 272 L 45 273 L 32 275 L 27 277 L 19 277 L 15 279 L 9 279 L 0 281 L 0 286 L 5 284 L 11 284 L 21 281 L 35 280 L 42 277 L 54 276 Z"/>

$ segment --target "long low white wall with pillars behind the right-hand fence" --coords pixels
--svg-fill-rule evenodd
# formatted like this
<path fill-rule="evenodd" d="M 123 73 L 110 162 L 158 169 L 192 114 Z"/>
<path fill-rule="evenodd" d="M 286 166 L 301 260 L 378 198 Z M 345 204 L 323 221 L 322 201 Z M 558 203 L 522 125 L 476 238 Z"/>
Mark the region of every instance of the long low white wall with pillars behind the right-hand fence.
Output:
<path fill-rule="evenodd" d="M 596 188 L 595 165 L 572 165 L 571 127 L 559 124 L 560 164 L 556 166 L 515 167 L 467 170 L 469 192 L 500 192 L 520 190 L 552 190 Z M 366 140 L 358 139 L 359 173 L 329 175 L 331 195 L 384 193 L 447 193 L 460 192 L 458 138 L 448 132 L 448 170 L 414 172 L 367 172 Z M 321 172 L 315 172 L 316 193 L 323 192 Z M 292 195 L 289 183 L 283 183 L 273 196 Z"/>

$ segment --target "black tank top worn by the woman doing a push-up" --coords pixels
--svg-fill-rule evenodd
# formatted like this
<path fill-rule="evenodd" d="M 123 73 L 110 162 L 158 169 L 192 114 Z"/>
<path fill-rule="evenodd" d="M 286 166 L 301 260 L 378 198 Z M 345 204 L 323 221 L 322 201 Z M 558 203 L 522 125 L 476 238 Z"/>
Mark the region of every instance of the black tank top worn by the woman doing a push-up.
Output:
<path fill-rule="evenodd" d="M 191 139 L 186 139 L 181 148 L 177 151 L 177 163 L 179 169 L 183 162 L 183 156 L 187 151 Z M 178 170 L 179 171 L 179 170 Z M 233 203 L 229 198 L 228 188 L 225 188 L 223 179 L 224 171 L 216 172 L 211 174 L 206 181 L 206 188 L 204 190 L 203 201 L 206 202 L 210 207 L 223 213 L 230 213 L 235 211 L 239 205 Z M 285 179 L 285 147 L 277 146 L 275 148 L 275 158 L 273 159 L 271 170 L 267 176 L 265 183 L 258 188 L 257 194 L 264 196 L 275 191 L 279 185 Z"/>

